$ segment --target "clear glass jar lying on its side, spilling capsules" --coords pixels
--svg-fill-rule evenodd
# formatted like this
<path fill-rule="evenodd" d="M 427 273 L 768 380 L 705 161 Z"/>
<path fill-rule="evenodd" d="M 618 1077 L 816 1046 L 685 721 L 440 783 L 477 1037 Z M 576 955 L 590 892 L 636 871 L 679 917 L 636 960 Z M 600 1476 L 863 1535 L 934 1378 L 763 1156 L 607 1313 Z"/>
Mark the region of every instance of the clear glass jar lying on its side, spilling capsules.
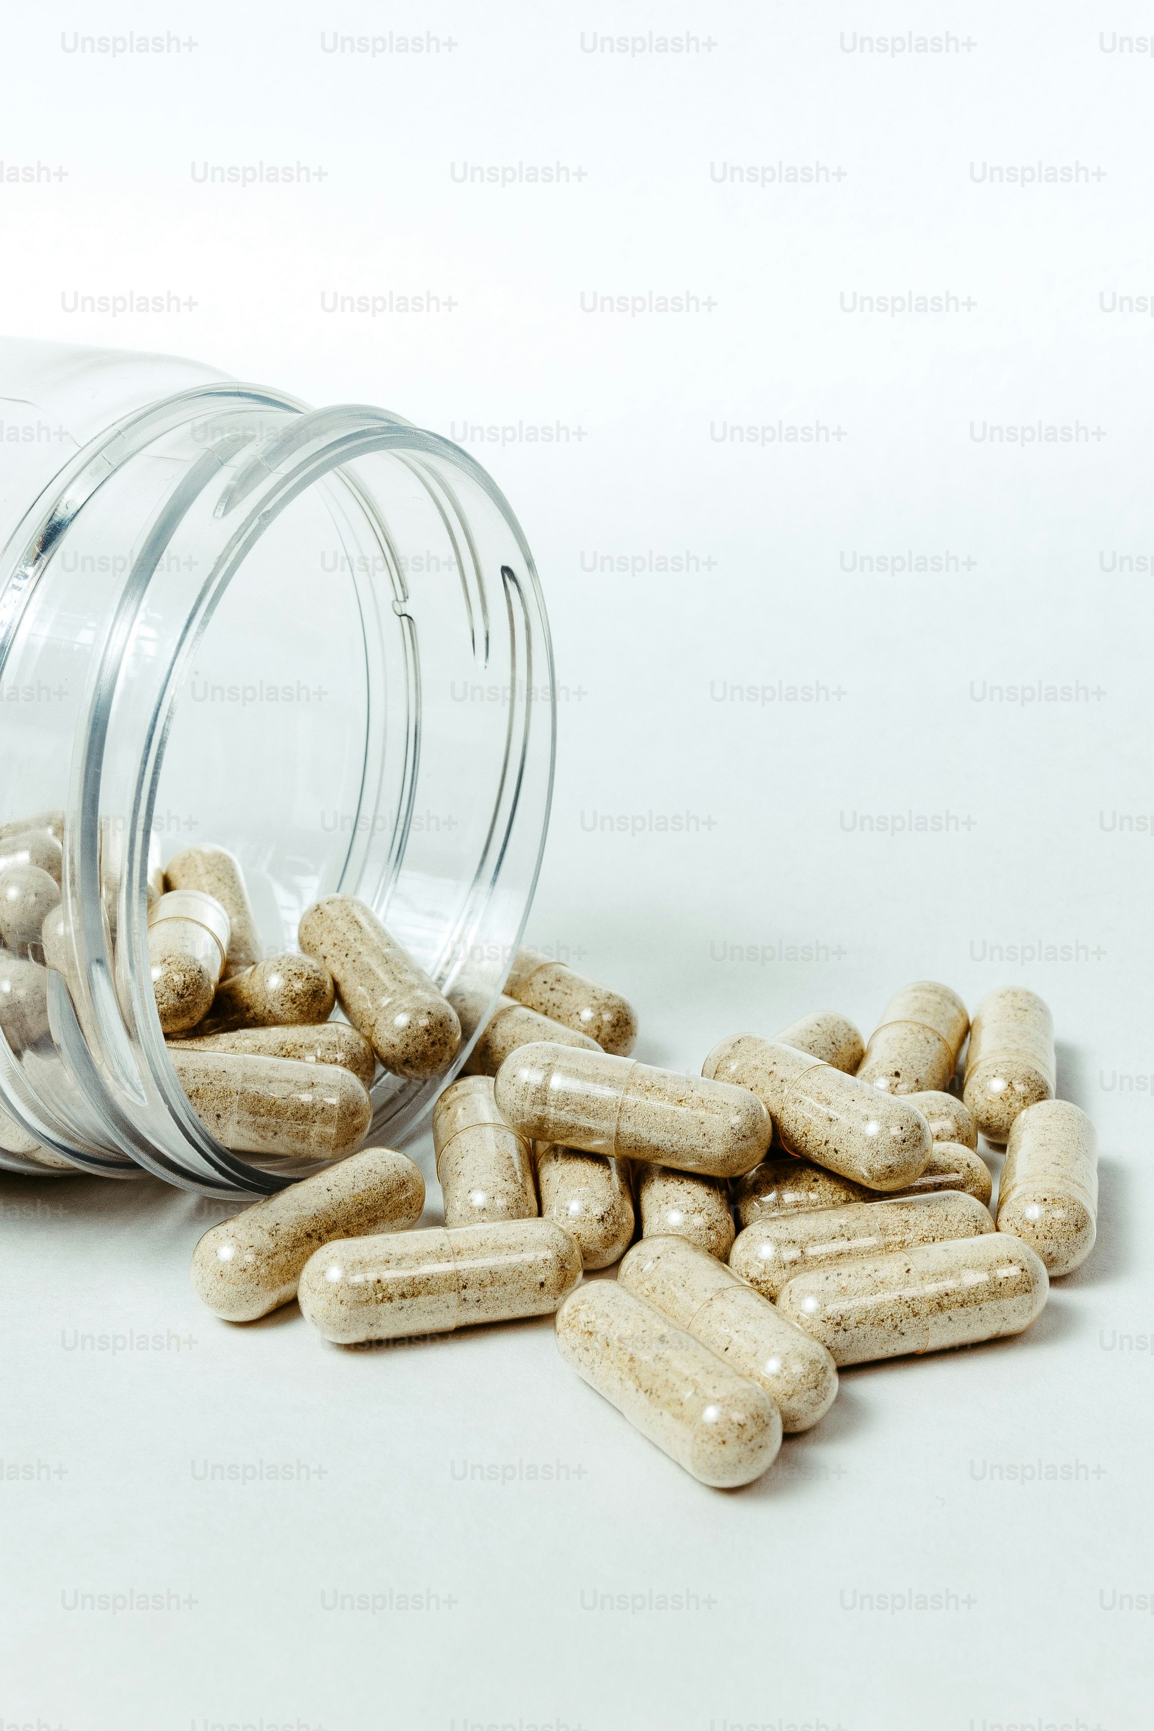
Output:
<path fill-rule="evenodd" d="M 0 1167 L 275 1191 L 317 1163 L 228 1153 L 168 1061 L 149 872 L 218 843 L 266 954 L 343 891 L 441 990 L 495 999 L 554 769 L 524 535 L 472 457 L 400 415 L 0 341 L 0 826 L 62 814 L 71 935 L 47 1006 L 5 1014 L 0 983 Z M 410 1136 L 471 1044 L 433 1082 L 382 1075 L 370 1139 Z"/>

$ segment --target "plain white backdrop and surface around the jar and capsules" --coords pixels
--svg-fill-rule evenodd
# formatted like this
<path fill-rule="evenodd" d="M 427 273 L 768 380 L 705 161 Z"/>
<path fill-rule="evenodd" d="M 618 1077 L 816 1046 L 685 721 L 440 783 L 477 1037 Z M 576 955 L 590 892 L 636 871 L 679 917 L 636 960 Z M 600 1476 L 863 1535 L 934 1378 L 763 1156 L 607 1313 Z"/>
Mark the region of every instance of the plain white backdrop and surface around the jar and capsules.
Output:
<path fill-rule="evenodd" d="M 196 47 L 66 52 L 130 29 Z M 389 31 L 441 50 L 322 50 Z M 649 52 L 651 31 L 701 45 Z M 855 47 L 907 31 L 953 47 Z M 910 978 L 971 1007 L 1029 985 L 1059 1092 L 1100 1130 L 1102 1217 L 1028 1336 L 846 1373 L 761 1483 L 720 1494 L 580 1383 L 548 1322 L 377 1352 L 327 1348 L 296 1307 L 228 1328 L 187 1279 L 225 1208 L 151 1179 L 0 1181 L 5 1731 L 1149 1726 L 1154 1622 L 1118 1606 L 1154 1591 L 1154 320 L 1111 308 L 1152 305 L 1154 59 L 1107 52 L 1144 31 L 1137 5 L 974 0 L 9 10 L 0 156 L 54 178 L 0 182 L 0 327 L 458 440 L 569 429 L 469 443 L 555 634 L 529 938 L 630 994 L 638 1056 L 692 1071 L 815 1007 L 869 1032 Z M 588 52 L 618 35 L 642 52 Z M 194 178 L 298 161 L 325 178 Z M 458 183 L 465 163 L 583 177 Z M 701 310 L 647 310 L 685 291 Z M 182 305 L 69 310 L 130 293 Z M 389 293 L 453 306 L 324 310 Z M 946 293 L 957 310 L 843 310 Z M 583 310 L 600 296 L 645 312 Z M 727 436 L 779 422 L 844 436 Z M 178 1343 L 74 1345 L 93 1329 Z M 294 1477 L 197 1477 L 213 1463 Z M 567 1477 L 524 1478 L 545 1463 Z M 426 1589 L 433 1610 L 325 1608 Z M 180 1603 L 67 1608 L 126 1591 Z"/>

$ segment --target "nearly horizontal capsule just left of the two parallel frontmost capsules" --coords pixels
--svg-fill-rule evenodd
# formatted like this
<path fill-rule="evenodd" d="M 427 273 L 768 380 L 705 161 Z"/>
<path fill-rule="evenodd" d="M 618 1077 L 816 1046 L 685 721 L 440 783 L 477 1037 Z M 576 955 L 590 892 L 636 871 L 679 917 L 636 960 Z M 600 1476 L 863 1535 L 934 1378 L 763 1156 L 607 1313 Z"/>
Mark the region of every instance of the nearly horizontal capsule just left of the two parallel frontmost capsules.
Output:
<path fill-rule="evenodd" d="M 305 1264 L 298 1298 L 325 1340 L 351 1347 L 548 1316 L 580 1279 L 581 1252 L 555 1220 L 486 1220 L 337 1239 Z"/>

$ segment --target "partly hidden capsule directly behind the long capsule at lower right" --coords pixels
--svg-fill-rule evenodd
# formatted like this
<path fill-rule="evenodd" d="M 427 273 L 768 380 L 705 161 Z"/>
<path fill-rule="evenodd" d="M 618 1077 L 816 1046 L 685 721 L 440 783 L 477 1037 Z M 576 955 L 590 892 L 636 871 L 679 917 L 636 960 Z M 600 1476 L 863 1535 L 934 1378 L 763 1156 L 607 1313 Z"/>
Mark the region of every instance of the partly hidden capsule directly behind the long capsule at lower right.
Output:
<path fill-rule="evenodd" d="M 829 1269 L 853 1257 L 881 1257 L 946 1238 L 993 1232 L 990 1210 L 962 1191 L 908 1196 L 894 1201 L 856 1201 L 844 1208 L 791 1213 L 756 1220 L 740 1234 L 730 1267 L 766 1298 L 808 1269 Z"/>

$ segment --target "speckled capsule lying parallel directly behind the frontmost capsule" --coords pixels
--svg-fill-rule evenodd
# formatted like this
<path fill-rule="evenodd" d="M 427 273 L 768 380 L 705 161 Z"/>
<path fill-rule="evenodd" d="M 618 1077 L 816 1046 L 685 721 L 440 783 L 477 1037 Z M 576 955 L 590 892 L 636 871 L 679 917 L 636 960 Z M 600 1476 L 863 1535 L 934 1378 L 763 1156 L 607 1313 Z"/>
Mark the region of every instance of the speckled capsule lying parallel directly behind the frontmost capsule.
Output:
<path fill-rule="evenodd" d="M 834 1404 L 837 1366 L 825 1347 L 687 1238 L 644 1238 L 618 1269 L 618 1281 L 761 1383 L 782 1414 L 782 1430 L 810 1430 Z"/>

